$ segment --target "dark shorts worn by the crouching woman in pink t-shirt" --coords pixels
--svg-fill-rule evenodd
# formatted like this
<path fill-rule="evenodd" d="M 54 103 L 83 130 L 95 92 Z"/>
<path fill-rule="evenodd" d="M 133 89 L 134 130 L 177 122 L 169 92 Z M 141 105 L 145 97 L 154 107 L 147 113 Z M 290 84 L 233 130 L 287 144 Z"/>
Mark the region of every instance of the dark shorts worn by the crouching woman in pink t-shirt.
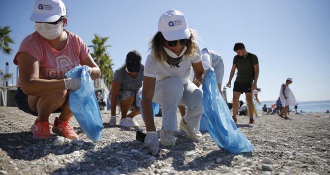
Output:
<path fill-rule="evenodd" d="M 18 108 L 20 110 L 22 110 L 26 113 L 29 113 L 31 115 L 38 116 L 38 113 L 33 112 L 33 110 L 28 105 L 27 95 L 23 92 L 23 90 L 20 87 L 17 88 L 17 93 L 15 95 L 15 101 L 16 101 L 16 103 L 18 105 Z M 61 111 L 62 111 L 62 109 L 59 107 L 55 111 L 53 111 L 52 113 L 58 113 L 58 112 L 61 112 Z"/>

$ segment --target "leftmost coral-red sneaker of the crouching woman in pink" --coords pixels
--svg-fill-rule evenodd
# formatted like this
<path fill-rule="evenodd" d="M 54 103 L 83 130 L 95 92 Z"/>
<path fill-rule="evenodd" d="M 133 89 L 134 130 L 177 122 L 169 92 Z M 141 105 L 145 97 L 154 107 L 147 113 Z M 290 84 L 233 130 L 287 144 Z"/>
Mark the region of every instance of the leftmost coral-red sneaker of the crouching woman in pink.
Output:
<path fill-rule="evenodd" d="M 33 133 L 32 137 L 36 139 L 47 139 L 51 136 L 49 122 L 47 121 L 37 121 L 37 119 L 35 119 L 31 126 L 31 131 Z"/>

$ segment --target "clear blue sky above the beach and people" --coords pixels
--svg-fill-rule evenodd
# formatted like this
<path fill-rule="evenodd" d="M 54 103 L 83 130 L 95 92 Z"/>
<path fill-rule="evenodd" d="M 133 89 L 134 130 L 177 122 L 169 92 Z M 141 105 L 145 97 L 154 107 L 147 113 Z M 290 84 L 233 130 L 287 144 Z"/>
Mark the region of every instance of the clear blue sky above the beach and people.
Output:
<path fill-rule="evenodd" d="M 94 33 L 108 36 L 113 68 L 138 50 L 145 61 L 148 41 L 157 31 L 159 16 L 168 9 L 182 11 L 189 27 L 198 31 L 201 48 L 218 52 L 224 61 L 223 84 L 228 81 L 237 41 L 258 56 L 259 99 L 276 100 L 286 77 L 298 101 L 330 99 L 330 0 L 63 0 L 68 11 L 66 29 L 87 45 Z M 13 53 L 0 53 L 0 69 L 16 77 L 12 59 L 22 39 L 34 31 L 29 20 L 34 0 L 0 0 L 0 26 L 9 25 Z M 92 50 L 91 50 L 92 52 Z M 14 80 L 15 81 L 15 80 Z M 11 82 L 9 82 L 11 83 Z M 232 81 L 233 85 L 233 81 Z M 232 88 L 227 89 L 228 99 Z M 244 96 L 242 96 L 244 98 Z"/>

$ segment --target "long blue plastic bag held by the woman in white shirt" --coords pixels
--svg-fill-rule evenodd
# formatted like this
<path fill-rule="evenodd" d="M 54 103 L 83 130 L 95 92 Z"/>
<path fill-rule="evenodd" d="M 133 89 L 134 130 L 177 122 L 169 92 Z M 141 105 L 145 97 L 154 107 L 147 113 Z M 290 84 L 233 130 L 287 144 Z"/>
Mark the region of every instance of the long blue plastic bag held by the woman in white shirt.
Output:
<path fill-rule="evenodd" d="M 206 127 L 217 146 L 230 153 L 253 151 L 253 146 L 236 127 L 229 108 L 220 95 L 213 70 L 209 70 L 204 76 L 202 90 Z"/>

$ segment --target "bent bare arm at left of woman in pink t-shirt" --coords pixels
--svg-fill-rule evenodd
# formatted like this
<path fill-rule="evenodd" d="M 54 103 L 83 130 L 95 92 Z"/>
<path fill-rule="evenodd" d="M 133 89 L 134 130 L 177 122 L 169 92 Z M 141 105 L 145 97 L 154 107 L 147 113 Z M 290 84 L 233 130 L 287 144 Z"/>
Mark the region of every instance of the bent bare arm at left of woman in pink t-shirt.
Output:
<path fill-rule="evenodd" d="M 65 90 L 63 79 L 40 79 L 39 62 L 29 53 L 18 54 L 19 82 L 27 95 L 42 96 Z"/>

